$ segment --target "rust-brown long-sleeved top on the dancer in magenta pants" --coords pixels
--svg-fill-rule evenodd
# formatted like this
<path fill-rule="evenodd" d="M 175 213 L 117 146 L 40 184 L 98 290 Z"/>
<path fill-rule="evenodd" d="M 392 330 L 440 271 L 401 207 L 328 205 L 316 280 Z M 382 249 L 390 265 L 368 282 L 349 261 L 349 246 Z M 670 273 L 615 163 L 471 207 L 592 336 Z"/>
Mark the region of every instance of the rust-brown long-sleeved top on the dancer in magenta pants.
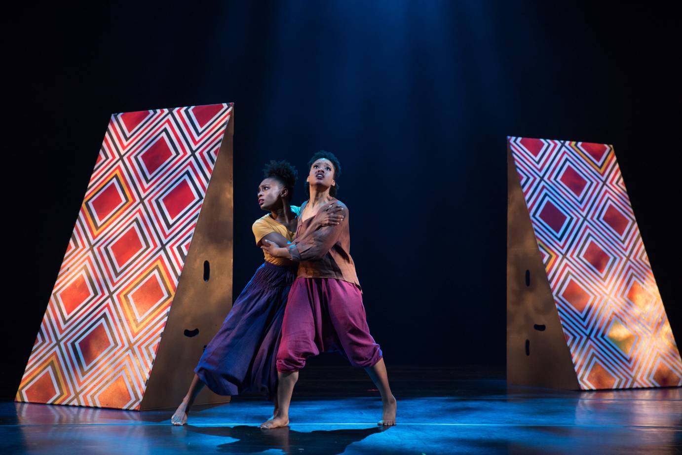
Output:
<path fill-rule="evenodd" d="M 289 246 L 291 258 L 299 263 L 299 278 L 337 278 L 360 287 L 355 274 L 355 264 L 351 258 L 351 233 L 349 230 L 348 207 L 338 199 L 331 199 L 342 207 L 340 214 L 344 217 L 336 226 L 311 226 L 314 218 L 321 216 L 318 211 L 314 216 L 303 221 L 303 209 L 296 229 L 296 238 Z M 310 229 L 309 229 L 310 228 Z"/>

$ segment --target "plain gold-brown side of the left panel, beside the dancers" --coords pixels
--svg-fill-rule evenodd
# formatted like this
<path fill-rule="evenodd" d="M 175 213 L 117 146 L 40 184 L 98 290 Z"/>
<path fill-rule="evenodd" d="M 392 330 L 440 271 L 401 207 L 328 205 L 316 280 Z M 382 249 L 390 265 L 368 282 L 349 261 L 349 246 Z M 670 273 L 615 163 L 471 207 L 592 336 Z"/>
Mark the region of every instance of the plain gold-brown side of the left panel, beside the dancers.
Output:
<path fill-rule="evenodd" d="M 228 121 L 140 410 L 179 405 L 206 344 L 232 308 L 233 136 Z M 204 280 L 205 262 L 209 279 Z M 198 334 L 187 336 L 198 329 Z M 195 405 L 229 402 L 207 387 Z"/>

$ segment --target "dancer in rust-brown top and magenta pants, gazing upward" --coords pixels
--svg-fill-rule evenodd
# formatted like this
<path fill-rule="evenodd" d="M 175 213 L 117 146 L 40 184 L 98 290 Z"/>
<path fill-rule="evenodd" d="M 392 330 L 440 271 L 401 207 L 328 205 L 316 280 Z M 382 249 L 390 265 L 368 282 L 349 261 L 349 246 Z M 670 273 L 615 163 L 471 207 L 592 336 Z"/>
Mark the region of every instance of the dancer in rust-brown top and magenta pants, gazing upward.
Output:
<path fill-rule="evenodd" d="M 325 351 L 340 351 L 351 365 L 364 367 L 381 393 L 383 417 L 379 425 L 396 424 L 396 398 L 391 394 L 379 344 L 370 335 L 360 284 L 351 258 L 348 207 L 338 201 L 336 179 L 341 166 L 333 153 L 315 153 L 308 164 L 310 199 L 301 206 L 293 244 L 280 247 L 265 241 L 272 256 L 299 264 L 289 291 L 282 341 L 277 353 L 279 415 L 261 425 L 288 425 L 288 410 L 298 371 L 306 359 Z M 318 226 L 316 220 L 335 203 L 341 207 L 339 224 Z"/>

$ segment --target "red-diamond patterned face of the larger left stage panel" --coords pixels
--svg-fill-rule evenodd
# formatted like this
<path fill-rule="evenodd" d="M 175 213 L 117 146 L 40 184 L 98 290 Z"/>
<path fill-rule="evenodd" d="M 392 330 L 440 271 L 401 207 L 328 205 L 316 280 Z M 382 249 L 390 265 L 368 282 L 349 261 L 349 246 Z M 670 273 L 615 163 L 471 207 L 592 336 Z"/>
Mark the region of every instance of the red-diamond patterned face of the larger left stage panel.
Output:
<path fill-rule="evenodd" d="M 111 117 L 17 401 L 139 409 L 232 110 Z"/>

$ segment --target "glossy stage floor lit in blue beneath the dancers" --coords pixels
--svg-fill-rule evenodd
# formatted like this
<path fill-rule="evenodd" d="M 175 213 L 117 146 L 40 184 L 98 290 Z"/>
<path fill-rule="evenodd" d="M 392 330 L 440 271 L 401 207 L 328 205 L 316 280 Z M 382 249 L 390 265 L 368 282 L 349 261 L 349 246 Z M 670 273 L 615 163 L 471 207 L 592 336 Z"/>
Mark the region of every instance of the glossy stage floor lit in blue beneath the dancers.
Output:
<path fill-rule="evenodd" d="M 261 430 L 271 405 L 237 397 L 196 409 L 115 411 L 0 403 L 3 454 L 494 454 L 682 452 L 682 389 L 569 392 L 508 386 L 499 372 L 389 369 L 398 425 L 379 428 L 381 400 L 363 372 L 302 373 L 291 426 Z"/>

